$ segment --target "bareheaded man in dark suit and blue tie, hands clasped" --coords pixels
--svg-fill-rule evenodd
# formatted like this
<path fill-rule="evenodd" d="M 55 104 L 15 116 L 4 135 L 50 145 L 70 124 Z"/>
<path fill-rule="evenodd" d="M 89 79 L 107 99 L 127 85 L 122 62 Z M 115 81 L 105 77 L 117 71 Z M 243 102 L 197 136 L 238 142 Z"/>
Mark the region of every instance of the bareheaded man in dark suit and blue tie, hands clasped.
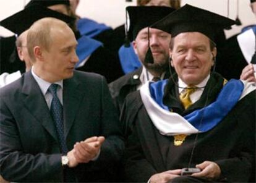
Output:
<path fill-rule="evenodd" d="M 106 80 L 74 71 L 77 41 L 58 19 L 28 30 L 30 72 L 0 91 L 1 176 L 13 182 L 111 182 L 123 141 Z"/>

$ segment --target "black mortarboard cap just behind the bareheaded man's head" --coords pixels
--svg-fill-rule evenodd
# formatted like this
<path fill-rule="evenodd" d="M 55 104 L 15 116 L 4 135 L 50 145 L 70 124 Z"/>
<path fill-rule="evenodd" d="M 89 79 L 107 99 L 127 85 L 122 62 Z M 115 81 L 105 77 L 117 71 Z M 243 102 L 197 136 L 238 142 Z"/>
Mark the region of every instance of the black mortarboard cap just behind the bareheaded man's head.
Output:
<path fill-rule="evenodd" d="M 46 7 L 31 6 L 2 20 L 0 22 L 0 25 L 7 28 L 8 30 L 11 30 L 11 32 L 16 33 L 17 35 L 20 35 L 22 32 L 30 28 L 30 26 L 36 20 L 43 19 L 45 17 L 54 17 L 66 23 L 75 21 L 75 19 L 72 17 L 56 11 L 52 11 L 51 9 L 48 9 Z"/>

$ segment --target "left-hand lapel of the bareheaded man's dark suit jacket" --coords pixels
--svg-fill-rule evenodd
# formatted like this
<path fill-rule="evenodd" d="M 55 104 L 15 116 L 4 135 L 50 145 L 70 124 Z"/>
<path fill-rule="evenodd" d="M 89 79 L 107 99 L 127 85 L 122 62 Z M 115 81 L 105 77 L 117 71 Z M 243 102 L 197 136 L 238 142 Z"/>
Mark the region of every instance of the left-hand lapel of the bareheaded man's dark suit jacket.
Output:
<path fill-rule="evenodd" d="M 31 71 L 24 75 L 22 86 L 22 100 L 28 111 L 32 113 L 37 121 L 53 136 L 58 142 L 54 121 L 49 113 L 45 97 L 41 93 L 40 87 L 32 76 Z"/>

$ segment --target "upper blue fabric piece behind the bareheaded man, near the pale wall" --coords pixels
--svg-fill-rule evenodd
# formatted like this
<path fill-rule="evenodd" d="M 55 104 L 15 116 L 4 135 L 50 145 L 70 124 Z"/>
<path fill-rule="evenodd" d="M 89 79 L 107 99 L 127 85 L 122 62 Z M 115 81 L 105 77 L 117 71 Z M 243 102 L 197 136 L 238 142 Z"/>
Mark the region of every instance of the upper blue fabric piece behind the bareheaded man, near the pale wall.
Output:
<path fill-rule="evenodd" d="M 91 19 L 82 18 L 77 21 L 77 29 L 81 35 L 93 38 L 101 32 L 111 29 L 111 27 L 108 27 L 104 23 L 98 23 Z"/>

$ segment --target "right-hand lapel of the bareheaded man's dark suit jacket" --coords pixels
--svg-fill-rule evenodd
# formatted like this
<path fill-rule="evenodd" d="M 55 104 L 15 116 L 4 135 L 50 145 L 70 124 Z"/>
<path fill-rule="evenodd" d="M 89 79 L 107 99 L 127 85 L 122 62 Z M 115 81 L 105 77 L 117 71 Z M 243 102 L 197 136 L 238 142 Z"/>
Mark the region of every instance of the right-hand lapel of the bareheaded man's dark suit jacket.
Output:
<path fill-rule="evenodd" d="M 75 74 L 75 73 L 74 73 Z M 72 77 L 63 82 L 63 109 L 64 109 L 64 134 L 67 134 L 74 124 L 75 117 L 79 111 L 80 103 L 85 95 L 85 91 L 79 81 Z"/>

